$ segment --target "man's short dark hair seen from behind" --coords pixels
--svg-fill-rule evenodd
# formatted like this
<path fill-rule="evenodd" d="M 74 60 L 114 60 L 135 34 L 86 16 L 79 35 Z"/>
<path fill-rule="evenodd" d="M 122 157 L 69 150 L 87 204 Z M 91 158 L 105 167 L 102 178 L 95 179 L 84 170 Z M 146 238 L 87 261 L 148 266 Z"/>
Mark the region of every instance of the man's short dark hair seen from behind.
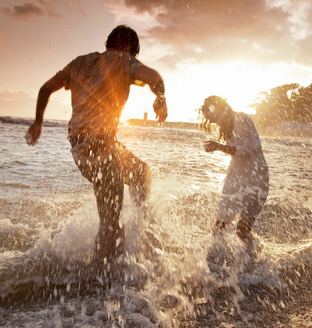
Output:
<path fill-rule="evenodd" d="M 116 50 L 124 50 L 130 45 L 130 55 L 136 57 L 140 51 L 139 38 L 136 31 L 127 25 L 118 25 L 107 36 L 106 49 L 113 48 Z"/>

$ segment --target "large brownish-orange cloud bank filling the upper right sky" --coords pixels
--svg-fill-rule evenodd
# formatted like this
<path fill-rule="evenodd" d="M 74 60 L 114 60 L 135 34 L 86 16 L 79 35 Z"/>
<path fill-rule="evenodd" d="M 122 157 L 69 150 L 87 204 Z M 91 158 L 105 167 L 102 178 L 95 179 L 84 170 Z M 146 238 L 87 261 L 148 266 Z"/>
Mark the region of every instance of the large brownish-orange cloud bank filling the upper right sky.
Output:
<path fill-rule="evenodd" d="M 171 45 L 181 61 L 283 60 L 312 65 L 308 1 L 125 0 L 124 5 L 157 21 L 141 40 Z"/>

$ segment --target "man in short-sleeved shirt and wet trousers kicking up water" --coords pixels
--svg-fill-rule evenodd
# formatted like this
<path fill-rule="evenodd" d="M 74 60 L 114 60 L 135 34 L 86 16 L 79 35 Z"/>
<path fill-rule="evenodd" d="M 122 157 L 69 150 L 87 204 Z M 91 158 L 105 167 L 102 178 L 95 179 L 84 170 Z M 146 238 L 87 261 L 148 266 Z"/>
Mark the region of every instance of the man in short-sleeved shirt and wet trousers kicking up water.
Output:
<path fill-rule="evenodd" d="M 49 96 L 62 87 L 70 89 L 68 140 L 76 165 L 93 184 L 100 216 L 94 253 L 100 262 L 113 262 L 124 246 L 124 228 L 119 223 L 124 183 L 136 204 L 144 202 L 151 189 L 148 165 L 116 138 L 130 85 L 149 85 L 156 95 L 153 108 L 159 123 L 167 117 L 167 106 L 163 79 L 136 59 L 140 46 L 134 30 L 117 26 L 105 45 L 103 53 L 77 57 L 40 88 L 36 119 L 25 138 L 29 145 L 35 144 Z"/>

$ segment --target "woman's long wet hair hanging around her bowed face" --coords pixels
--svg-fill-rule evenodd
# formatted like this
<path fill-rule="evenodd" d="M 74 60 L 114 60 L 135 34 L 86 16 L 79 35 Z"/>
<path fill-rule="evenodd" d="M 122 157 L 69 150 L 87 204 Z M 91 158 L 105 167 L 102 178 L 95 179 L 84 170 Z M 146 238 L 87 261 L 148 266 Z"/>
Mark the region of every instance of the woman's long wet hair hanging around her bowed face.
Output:
<path fill-rule="evenodd" d="M 202 108 L 209 107 L 209 105 L 213 105 L 220 114 L 225 112 L 225 119 L 222 122 L 222 125 L 219 128 L 219 141 L 223 139 L 225 141 L 227 138 L 230 138 L 233 133 L 233 126 L 234 126 L 234 118 L 235 113 L 232 110 L 231 106 L 226 102 L 225 98 L 221 98 L 219 96 L 209 96 L 205 99 L 204 105 L 198 110 L 199 116 L 198 118 L 201 119 L 200 129 L 203 130 L 205 133 L 211 133 L 211 122 L 203 115 L 200 117 Z"/>

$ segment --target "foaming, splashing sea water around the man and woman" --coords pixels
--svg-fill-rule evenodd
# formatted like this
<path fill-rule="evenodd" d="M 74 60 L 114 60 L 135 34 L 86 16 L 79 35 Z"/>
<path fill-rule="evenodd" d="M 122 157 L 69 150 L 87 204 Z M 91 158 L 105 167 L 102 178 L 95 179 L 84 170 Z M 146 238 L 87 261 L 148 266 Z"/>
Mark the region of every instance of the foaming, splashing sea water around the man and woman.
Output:
<path fill-rule="evenodd" d="M 261 138 L 270 189 L 251 255 L 235 223 L 210 233 L 229 155 L 205 153 L 199 131 L 121 126 L 153 183 L 143 208 L 125 189 L 117 277 L 90 265 L 99 218 L 67 129 L 33 147 L 27 129 L 0 123 L 0 327 L 310 327 L 311 139 Z"/>

